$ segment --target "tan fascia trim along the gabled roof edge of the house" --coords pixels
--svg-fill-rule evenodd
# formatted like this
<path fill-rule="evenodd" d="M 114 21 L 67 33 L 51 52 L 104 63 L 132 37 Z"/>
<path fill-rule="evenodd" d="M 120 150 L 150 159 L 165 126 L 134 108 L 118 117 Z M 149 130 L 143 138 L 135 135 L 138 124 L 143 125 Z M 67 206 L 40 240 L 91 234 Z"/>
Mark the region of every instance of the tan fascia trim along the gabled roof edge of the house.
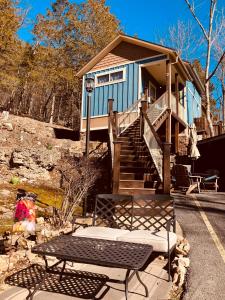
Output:
<path fill-rule="evenodd" d="M 165 47 L 159 44 L 150 43 L 135 37 L 131 37 L 128 35 L 122 35 L 120 34 L 118 37 L 116 37 L 111 43 L 109 43 L 102 51 L 100 51 L 95 57 L 93 57 L 78 73 L 77 76 L 81 77 L 87 72 L 89 72 L 100 60 L 103 59 L 112 49 L 114 49 L 116 46 L 118 46 L 121 42 L 127 42 L 130 44 L 134 44 L 140 47 L 144 47 L 150 50 L 155 50 L 158 52 L 161 52 L 163 54 L 171 55 L 175 61 L 179 62 L 182 70 L 184 73 L 186 73 L 187 77 L 190 77 L 190 74 L 185 67 L 183 61 L 178 56 L 177 52 L 173 48 Z"/>

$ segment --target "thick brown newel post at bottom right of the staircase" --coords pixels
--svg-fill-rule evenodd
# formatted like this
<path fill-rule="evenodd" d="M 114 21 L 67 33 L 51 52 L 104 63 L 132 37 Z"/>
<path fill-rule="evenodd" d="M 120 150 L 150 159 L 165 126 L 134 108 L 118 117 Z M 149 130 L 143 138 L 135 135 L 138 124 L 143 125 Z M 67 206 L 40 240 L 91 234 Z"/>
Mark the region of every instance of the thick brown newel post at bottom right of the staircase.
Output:
<path fill-rule="evenodd" d="M 170 194 L 170 148 L 171 143 L 163 144 L 163 193 Z"/>

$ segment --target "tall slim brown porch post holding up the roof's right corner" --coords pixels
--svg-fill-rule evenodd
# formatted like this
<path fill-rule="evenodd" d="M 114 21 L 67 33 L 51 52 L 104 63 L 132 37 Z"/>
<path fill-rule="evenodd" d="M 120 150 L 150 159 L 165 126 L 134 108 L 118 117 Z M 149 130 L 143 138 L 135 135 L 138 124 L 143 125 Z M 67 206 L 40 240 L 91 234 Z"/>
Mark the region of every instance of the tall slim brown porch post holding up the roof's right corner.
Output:
<path fill-rule="evenodd" d="M 171 143 L 171 62 L 166 61 L 166 91 L 167 91 L 167 105 L 170 109 L 166 121 L 166 142 Z"/>

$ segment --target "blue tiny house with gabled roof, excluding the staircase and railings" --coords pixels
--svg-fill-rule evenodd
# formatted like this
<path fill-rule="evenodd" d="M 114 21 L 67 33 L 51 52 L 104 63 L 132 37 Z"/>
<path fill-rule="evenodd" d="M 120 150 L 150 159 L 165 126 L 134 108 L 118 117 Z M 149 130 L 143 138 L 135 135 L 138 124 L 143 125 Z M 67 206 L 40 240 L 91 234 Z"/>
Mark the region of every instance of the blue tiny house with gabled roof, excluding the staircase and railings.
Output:
<path fill-rule="evenodd" d="M 153 103 L 166 92 L 166 61 L 171 59 L 171 92 L 179 90 L 179 120 L 188 125 L 201 114 L 201 97 L 195 87 L 193 70 L 167 47 L 121 35 L 94 57 L 79 73 L 95 80 L 91 95 L 91 130 L 107 129 L 108 99 L 113 109 L 125 112 L 146 95 Z M 195 76 L 196 77 L 196 76 Z M 192 95 L 194 93 L 194 96 Z M 192 95 L 192 96 L 191 96 Z M 82 92 L 81 131 L 86 128 L 87 94 Z M 176 100 L 172 98 L 172 101 Z M 172 103 L 176 118 L 176 104 Z"/>

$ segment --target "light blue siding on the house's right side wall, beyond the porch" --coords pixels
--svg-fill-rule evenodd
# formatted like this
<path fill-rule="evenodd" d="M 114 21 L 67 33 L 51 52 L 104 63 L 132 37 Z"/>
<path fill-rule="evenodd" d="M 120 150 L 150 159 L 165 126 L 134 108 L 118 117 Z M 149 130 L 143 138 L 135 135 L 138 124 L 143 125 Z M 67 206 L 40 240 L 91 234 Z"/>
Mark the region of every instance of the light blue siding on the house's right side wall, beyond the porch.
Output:
<path fill-rule="evenodd" d="M 201 117 L 201 96 L 197 92 L 194 85 L 187 81 L 186 83 L 187 94 L 187 121 L 191 125 L 194 123 L 194 118 Z"/>

